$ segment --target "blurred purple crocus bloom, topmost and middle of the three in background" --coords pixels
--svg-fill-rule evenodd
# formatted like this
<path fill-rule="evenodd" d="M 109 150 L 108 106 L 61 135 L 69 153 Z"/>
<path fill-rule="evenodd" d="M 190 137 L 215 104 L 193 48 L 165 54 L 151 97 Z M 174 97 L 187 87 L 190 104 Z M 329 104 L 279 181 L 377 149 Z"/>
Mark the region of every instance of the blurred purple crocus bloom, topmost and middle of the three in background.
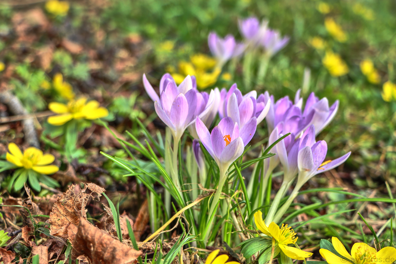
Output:
<path fill-rule="evenodd" d="M 263 20 L 261 24 L 257 17 L 248 17 L 238 21 L 241 35 L 246 39 L 250 45 L 257 46 L 261 38 L 267 31 L 268 21 Z"/>

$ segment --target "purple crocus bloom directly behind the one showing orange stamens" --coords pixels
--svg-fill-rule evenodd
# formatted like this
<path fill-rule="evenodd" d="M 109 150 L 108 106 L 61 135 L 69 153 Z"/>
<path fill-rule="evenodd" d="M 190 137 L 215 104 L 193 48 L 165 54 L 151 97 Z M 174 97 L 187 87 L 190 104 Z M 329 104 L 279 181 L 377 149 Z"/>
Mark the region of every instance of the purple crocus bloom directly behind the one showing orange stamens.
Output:
<path fill-rule="evenodd" d="M 221 90 L 221 100 L 219 106 L 219 116 L 231 117 L 234 122 L 238 124 L 241 130 L 241 134 L 244 134 L 246 138 L 242 137 L 244 144 L 249 143 L 253 138 L 254 132 L 253 127 L 256 127 L 268 113 L 270 108 L 270 102 L 264 103 L 264 99 L 257 98 L 257 92 L 251 91 L 242 96 L 242 93 L 236 87 L 236 83 L 231 86 L 227 92 L 225 89 Z M 252 134 L 242 133 L 244 131 L 253 131 Z"/>

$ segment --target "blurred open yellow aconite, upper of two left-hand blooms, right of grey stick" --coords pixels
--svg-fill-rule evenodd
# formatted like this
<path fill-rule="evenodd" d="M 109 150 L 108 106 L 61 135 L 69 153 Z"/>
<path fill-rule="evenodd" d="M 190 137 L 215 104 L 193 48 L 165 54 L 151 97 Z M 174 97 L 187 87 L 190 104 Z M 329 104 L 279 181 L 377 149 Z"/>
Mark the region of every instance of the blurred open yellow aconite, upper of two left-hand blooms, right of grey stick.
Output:
<path fill-rule="evenodd" d="M 48 123 L 54 126 L 61 126 L 72 119 L 93 120 L 109 115 L 109 111 L 105 107 L 100 107 L 99 102 L 92 100 L 87 103 L 86 98 L 70 100 L 67 105 L 51 102 L 48 108 L 59 114 L 48 117 Z"/>

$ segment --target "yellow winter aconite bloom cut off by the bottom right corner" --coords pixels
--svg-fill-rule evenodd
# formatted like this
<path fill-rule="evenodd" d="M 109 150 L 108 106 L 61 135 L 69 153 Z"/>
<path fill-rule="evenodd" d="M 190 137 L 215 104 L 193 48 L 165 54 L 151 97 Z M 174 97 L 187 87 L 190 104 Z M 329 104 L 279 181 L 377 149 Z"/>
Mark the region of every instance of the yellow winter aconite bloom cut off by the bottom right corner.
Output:
<path fill-rule="evenodd" d="M 373 247 L 366 243 L 354 243 L 351 254 L 346 251 L 344 245 L 338 238 L 331 238 L 331 242 L 335 250 L 344 258 L 350 260 L 354 264 L 391 264 L 396 260 L 396 249 L 394 247 L 383 247 L 377 252 Z M 341 264 L 348 262 L 327 249 L 320 249 L 320 255 L 324 257 L 328 264 Z"/>

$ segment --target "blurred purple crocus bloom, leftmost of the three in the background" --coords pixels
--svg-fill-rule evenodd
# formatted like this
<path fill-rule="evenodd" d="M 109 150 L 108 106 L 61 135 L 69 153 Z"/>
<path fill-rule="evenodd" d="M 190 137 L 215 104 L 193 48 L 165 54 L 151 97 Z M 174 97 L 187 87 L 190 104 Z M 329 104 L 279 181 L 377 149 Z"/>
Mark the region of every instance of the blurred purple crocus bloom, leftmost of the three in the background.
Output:
<path fill-rule="evenodd" d="M 217 58 L 219 66 L 230 58 L 239 57 L 245 49 L 245 45 L 237 43 L 234 36 L 228 34 L 225 38 L 220 38 L 215 32 L 209 34 L 208 45 L 211 53 Z"/>

